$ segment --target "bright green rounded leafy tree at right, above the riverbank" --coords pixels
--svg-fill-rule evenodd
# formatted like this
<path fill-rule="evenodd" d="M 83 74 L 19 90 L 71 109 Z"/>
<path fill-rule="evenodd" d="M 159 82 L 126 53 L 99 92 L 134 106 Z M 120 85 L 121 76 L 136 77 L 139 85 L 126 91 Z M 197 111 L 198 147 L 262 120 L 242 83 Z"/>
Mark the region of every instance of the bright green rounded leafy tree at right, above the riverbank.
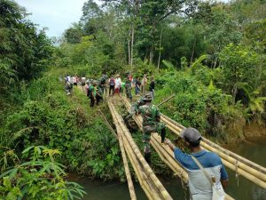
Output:
<path fill-rule="evenodd" d="M 220 60 L 223 70 L 223 90 L 233 96 L 233 102 L 243 85 L 247 84 L 252 92 L 258 86 L 258 82 L 262 81 L 259 76 L 262 73 L 260 57 L 248 48 L 229 44 L 220 53 Z M 257 78 L 259 79 L 254 82 Z"/>

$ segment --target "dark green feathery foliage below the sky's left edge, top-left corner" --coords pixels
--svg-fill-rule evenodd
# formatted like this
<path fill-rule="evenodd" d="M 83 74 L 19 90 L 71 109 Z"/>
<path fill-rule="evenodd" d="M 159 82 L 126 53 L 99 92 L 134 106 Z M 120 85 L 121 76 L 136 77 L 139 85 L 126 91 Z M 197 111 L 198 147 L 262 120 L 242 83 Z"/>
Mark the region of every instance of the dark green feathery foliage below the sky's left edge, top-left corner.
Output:
<path fill-rule="evenodd" d="M 25 19 L 27 13 L 13 1 L 1 1 L 0 12 L 0 68 L 4 70 L 1 79 L 12 80 L 14 74 L 20 80 L 39 76 L 51 58 L 51 41 L 44 30 L 37 31 L 35 25 Z M 9 73 L 5 72 L 7 69 Z M 2 81 L 0 84 L 1 90 Z"/>

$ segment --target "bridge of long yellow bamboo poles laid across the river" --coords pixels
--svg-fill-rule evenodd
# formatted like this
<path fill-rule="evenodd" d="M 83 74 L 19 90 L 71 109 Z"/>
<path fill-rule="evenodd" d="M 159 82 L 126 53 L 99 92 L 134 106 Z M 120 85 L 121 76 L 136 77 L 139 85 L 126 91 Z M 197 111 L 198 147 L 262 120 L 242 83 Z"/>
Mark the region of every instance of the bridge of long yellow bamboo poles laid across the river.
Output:
<path fill-rule="evenodd" d="M 160 180 L 155 176 L 153 170 L 146 163 L 144 156 L 142 156 L 141 151 L 137 147 L 137 144 L 133 140 L 129 129 L 125 125 L 121 115 L 118 113 L 117 109 L 113 104 L 113 98 L 106 97 L 107 105 L 110 109 L 110 112 L 113 117 L 113 124 L 115 125 L 116 132 L 113 131 L 112 125 L 109 124 L 102 114 L 108 128 L 113 133 L 113 136 L 119 141 L 121 148 L 121 156 L 123 164 L 125 167 L 125 172 L 129 185 L 129 195 L 132 200 L 136 200 L 137 196 L 135 194 L 135 189 L 133 186 L 133 181 L 131 179 L 129 171 L 129 162 L 132 165 L 134 172 L 137 176 L 137 180 L 141 188 L 145 191 L 145 195 L 150 200 L 170 200 L 173 199 L 169 194 L 166 188 L 160 183 Z M 131 105 L 129 100 L 126 97 L 121 96 L 121 102 L 129 111 Z M 142 116 L 135 115 L 133 116 L 137 126 L 142 128 Z M 168 116 L 160 114 L 161 122 L 167 124 L 168 129 L 179 136 L 180 132 L 185 128 L 183 125 L 178 124 L 176 121 L 172 120 Z M 154 132 L 151 136 L 151 144 L 157 154 L 160 156 L 162 162 L 168 165 L 168 167 L 182 180 L 182 184 L 185 186 L 188 183 L 188 173 L 184 167 L 179 164 L 170 148 L 168 146 L 160 143 L 160 135 L 157 132 Z M 221 146 L 215 144 L 214 142 L 202 138 L 200 145 L 202 148 L 207 151 L 215 152 L 222 159 L 222 162 L 225 166 L 230 168 L 232 171 L 236 172 L 236 175 L 241 175 L 247 180 L 254 182 L 255 185 L 266 189 L 266 168 L 262 167 L 259 164 L 254 164 L 253 162 L 247 160 L 245 157 L 239 156 L 230 150 L 222 148 Z M 232 196 L 226 194 L 226 200 L 234 199 Z"/>

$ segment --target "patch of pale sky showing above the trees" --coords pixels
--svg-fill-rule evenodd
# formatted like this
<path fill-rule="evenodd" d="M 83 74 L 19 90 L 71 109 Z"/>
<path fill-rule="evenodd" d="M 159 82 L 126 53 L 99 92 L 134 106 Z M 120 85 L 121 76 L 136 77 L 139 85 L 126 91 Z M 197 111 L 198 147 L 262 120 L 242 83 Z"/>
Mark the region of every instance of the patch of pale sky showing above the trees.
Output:
<path fill-rule="evenodd" d="M 221 0 L 228 2 L 228 0 Z M 25 7 L 29 20 L 48 28 L 47 36 L 62 36 L 66 28 L 78 22 L 82 16 L 82 5 L 86 0 L 15 0 Z M 95 2 L 99 3 L 98 0 Z"/>

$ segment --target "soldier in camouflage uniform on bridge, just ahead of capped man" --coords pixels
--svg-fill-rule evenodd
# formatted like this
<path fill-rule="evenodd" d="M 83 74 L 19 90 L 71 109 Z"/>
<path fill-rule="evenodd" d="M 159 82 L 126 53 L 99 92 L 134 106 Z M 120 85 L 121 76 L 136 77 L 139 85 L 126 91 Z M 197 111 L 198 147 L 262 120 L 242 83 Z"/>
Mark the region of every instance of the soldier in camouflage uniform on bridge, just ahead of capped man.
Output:
<path fill-rule="evenodd" d="M 137 113 L 141 114 L 143 118 L 143 139 L 145 143 L 145 160 L 147 163 L 151 163 L 151 133 L 152 132 L 160 132 L 161 143 L 164 142 L 166 136 L 166 126 L 165 124 L 160 123 L 160 111 L 155 105 L 151 102 L 153 100 L 150 93 L 145 95 L 143 99 L 145 101 L 145 105 L 139 107 L 137 109 Z"/>

